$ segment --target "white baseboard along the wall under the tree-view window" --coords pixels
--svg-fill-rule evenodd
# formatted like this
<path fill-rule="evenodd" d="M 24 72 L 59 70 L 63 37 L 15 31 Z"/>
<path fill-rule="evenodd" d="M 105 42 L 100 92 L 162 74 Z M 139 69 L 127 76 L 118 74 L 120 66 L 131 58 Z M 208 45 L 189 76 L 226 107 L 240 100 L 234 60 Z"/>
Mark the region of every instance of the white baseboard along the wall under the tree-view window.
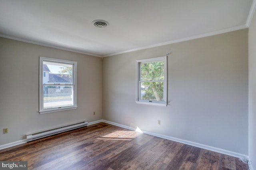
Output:
<path fill-rule="evenodd" d="M 130 130 L 133 130 L 133 131 L 136 130 L 133 127 L 129 127 L 129 126 L 126 126 L 126 125 L 121 125 L 121 124 L 114 123 L 114 122 L 111 122 L 111 121 L 102 120 L 102 122 L 108 123 L 108 124 L 111 124 L 111 125 L 115 125 L 115 126 L 118 126 L 118 127 L 123 127 L 125 129 L 130 129 Z M 175 138 L 175 137 L 161 135 L 161 134 L 158 134 L 158 133 L 153 133 L 153 132 L 145 131 L 145 130 L 142 130 L 142 129 L 140 129 L 140 130 L 143 133 L 147 134 L 147 135 L 152 135 L 152 136 L 155 136 L 155 137 L 160 137 L 160 138 L 163 138 L 163 139 L 168 139 L 170 141 L 175 141 L 175 142 L 183 143 L 183 144 L 194 146 L 194 147 L 198 147 L 198 148 L 202 148 L 202 149 L 206 149 L 206 150 L 211 150 L 211 151 L 218 152 L 218 153 L 221 153 L 221 154 L 226 154 L 226 155 L 234 156 L 236 158 L 240 158 L 240 157 L 248 158 L 248 155 L 232 152 L 230 150 L 225 150 L 225 149 L 220 149 L 220 148 L 216 148 L 216 147 L 211 147 L 211 146 L 208 146 L 208 145 L 203 145 L 203 144 L 200 144 L 200 143 L 186 141 L 186 140 L 178 139 L 178 138 Z"/>

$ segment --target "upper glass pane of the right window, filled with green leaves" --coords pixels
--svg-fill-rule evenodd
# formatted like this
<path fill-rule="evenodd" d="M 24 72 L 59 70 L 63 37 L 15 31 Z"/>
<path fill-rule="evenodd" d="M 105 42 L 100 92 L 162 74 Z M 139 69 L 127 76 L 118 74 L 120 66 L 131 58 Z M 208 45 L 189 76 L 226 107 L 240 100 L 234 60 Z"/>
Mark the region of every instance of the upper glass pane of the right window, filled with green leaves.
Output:
<path fill-rule="evenodd" d="M 141 80 L 164 80 L 164 61 L 141 63 Z"/>

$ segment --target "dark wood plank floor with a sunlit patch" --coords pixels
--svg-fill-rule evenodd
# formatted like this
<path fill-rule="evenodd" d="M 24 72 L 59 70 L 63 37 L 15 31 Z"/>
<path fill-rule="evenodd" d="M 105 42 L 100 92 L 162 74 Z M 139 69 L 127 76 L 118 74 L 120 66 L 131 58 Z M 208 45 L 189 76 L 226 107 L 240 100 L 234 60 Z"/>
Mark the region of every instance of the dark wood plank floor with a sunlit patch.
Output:
<path fill-rule="evenodd" d="M 0 150 L 29 170 L 248 170 L 232 156 L 98 123 Z"/>

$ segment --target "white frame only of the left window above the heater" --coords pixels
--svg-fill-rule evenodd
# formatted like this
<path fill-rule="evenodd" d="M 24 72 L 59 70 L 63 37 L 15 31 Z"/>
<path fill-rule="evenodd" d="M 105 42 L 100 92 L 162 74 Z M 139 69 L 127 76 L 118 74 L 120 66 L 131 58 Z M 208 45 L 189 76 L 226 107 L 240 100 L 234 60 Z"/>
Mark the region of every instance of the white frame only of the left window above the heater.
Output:
<path fill-rule="evenodd" d="M 70 110 L 70 109 L 76 109 L 77 108 L 77 62 L 76 61 L 68 61 L 68 60 L 62 60 L 62 59 L 54 59 L 49 57 L 39 57 L 39 113 L 52 113 L 56 111 L 64 111 L 64 110 Z M 44 109 L 44 86 L 43 86 L 43 62 L 49 61 L 54 63 L 66 63 L 66 64 L 73 64 L 73 86 L 74 86 L 74 105 L 73 106 L 65 106 L 65 107 L 53 107 Z"/>

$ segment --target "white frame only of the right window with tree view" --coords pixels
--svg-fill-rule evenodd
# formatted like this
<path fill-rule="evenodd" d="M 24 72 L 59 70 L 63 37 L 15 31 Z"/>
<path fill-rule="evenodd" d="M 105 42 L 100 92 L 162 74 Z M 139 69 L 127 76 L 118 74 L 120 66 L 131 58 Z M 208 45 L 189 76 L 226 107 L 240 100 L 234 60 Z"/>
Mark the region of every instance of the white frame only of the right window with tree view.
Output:
<path fill-rule="evenodd" d="M 164 94 L 163 101 L 150 101 L 150 100 L 140 100 L 140 64 L 141 63 L 152 63 L 157 61 L 164 61 Z M 154 57 L 149 59 L 136 60 L 136 103 L 137 104 L 146 104 L 154 106 L 167 106 L 167 56 L 163 57 Z"/>

